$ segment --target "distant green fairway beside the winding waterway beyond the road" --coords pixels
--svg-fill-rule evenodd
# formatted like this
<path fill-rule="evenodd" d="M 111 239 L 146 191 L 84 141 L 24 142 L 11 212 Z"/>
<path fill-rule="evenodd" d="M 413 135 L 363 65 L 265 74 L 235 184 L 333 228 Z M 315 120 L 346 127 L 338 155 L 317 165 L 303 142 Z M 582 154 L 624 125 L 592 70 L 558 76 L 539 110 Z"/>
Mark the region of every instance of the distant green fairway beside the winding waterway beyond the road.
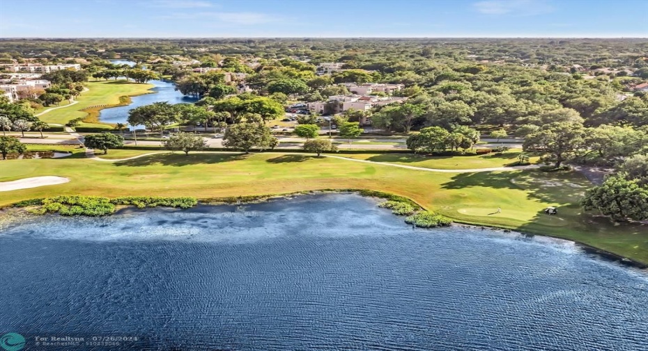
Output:
<path fill-rule="evenodd" d="M 81 95 L 77 97 L 77 101 L 79 101 L 78 104 L 49 111 L 44 115 L 40 115 L 40 120 L 47 123 L 65 124 L 75 118 L 86 118 L 88 115 L 91 115 L 91 117 L 92 115 L 95 115 L 95 119 L 97 119 L 101 108 L 120 106 L 125 103 L 125 99 L 121 97 L 133 97 L 148 94 L 151 93 L 151 90 L 149 89 L 153 88 L 153 84 L 139 84 L 123 80 L 91 81 L 86 83 L 86 85 L 88 91 L 82 92 Z M 91 108 L 93 106 L 101 107 Z M 87 110 L 88 108 L 91 109 L 88 111 L 82 111 Z M 82 123 L 82 126 L 111 128 L 109 124 L 98 123 L 98 120 L 93 123 Z"/>

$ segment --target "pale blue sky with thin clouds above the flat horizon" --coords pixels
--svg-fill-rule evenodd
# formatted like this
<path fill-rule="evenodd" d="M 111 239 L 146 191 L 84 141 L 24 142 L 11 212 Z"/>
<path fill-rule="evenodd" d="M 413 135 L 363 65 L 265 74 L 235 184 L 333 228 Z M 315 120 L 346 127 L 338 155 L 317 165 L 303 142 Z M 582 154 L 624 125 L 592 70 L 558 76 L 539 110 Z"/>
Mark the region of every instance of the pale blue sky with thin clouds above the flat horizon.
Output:
<path fill-rule="evenodd" d="M 648 37 L 647 0 L 0 0 L 0 37 Z"/>

